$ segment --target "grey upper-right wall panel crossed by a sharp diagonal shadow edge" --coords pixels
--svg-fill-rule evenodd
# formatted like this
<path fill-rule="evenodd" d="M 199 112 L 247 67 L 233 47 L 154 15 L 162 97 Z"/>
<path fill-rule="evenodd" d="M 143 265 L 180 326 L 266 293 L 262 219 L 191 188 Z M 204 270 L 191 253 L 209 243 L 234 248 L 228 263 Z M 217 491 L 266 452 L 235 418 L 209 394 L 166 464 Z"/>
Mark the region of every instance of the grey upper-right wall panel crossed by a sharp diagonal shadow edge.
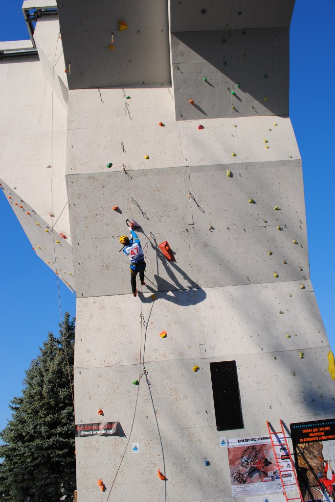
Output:
<path fill-rule="evenodd" d="M 288 113 L 287 29 L 174 33 L 171 51 L 178 120 Z"/>

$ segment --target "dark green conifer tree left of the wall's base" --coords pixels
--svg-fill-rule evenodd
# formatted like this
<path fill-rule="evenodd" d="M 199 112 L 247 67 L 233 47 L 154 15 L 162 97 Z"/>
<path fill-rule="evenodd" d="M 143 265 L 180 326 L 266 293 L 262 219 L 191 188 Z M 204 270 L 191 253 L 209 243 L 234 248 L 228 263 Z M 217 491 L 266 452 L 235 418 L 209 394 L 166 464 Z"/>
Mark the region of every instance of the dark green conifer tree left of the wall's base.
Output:
<path fill-rule="evenodd" d="M 0 433 L 1 502 L 66 502 L 76 489 L 73 383 L 75 320 L 66 312 L 64 335 L 49 333 L 26 371 L 12 420 Z M 65 351 L 66 347 L 66 351 Z M 67 352 L 67 356 L 66 356 Z M 69 370 L 67 365 L 69 361 Z"/>

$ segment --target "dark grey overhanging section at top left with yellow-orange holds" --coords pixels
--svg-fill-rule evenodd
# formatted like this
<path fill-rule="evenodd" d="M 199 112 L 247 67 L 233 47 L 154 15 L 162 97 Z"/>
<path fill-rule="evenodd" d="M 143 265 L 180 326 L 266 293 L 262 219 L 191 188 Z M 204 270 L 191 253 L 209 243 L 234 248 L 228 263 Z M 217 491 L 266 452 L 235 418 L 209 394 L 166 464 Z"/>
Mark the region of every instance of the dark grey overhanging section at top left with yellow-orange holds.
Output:
<path fill-rule="evenodd" d="M 171 82 L 166 0 L 59 0 L 58 10 L 69 89 Z"/>

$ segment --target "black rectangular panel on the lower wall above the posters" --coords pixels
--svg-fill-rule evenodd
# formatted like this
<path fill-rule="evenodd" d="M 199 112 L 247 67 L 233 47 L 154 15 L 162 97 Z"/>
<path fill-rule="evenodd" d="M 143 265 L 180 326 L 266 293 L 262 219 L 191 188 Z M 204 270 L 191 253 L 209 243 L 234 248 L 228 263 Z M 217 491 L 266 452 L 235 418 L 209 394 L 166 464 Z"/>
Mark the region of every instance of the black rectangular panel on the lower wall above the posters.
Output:
<path fill-rule="evenodd" d="M 216 429 L 243 429 L 236 361 L 210 362 Z"/>

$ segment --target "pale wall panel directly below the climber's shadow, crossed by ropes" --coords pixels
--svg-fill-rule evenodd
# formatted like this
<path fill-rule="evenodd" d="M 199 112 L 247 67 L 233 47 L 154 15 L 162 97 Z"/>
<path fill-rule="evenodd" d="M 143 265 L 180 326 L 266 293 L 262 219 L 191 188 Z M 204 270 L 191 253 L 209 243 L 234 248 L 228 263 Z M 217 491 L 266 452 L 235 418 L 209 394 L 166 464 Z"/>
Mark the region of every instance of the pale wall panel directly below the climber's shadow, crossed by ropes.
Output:
<path fill-rule="evenodd" d="M 145 290 L 145 288 L 143 288 Z M 143 300 L 142 333 L 145 361 L 199 357 L 199 344 L 204 343 L 201 306 L 206 293 L 201 290 L 140 295 Z M 200 303 L 199 303 L 200 302 Z M 132 316 L 124 316 L 124 311 Z M 132 295 L 78 299 L 75 366 L 79 368 L 136 364 L 140 361 L 138 337 L 141 327 L 140 304 Z M 116 319 L 118 321 L 116 322 Z M 166 338 L 160 333 L 165 331 Z M 136 331 L 137 333 L 137 331 Z M 105 347 L 101 351 L 101 347 Z M 144 347 L 144 345 L 143 345 Z"/>

